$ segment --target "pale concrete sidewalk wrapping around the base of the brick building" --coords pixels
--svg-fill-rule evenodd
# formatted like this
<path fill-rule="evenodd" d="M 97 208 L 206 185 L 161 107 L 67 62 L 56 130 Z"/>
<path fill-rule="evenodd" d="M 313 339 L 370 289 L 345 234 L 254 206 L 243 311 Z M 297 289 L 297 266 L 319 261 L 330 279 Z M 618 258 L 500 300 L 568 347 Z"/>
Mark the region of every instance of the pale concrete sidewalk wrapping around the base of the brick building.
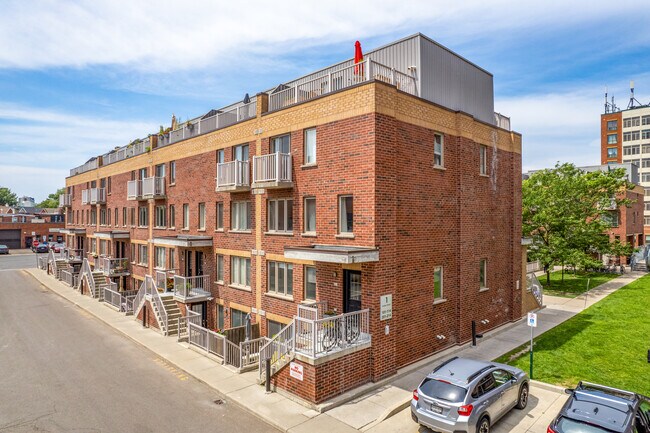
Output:
<path fill-rule="evenodd" d="M 244 410 L 262 418 L 276 428 L 291 433 L 354 432 L 359 430 L 392 432 L 397 431 L 396 423 L 399 423 L 401 431 L 417 431 L 417 426 L 410 421 L 408 413 L 411 393 L 441 359 L 453 354 L 454 356 L 492 360 L 530 340 L 530 328 L 525 321 L 520 320 L 487 333 L 477 347 L 471 347 L 468 344 L 452 347 L 399 370 L 397 375 L 387 380 L 367 384 L 346 393 L 335 399 L 333 403 L 324 405 L 322 409 L 326 412 L 319 413 L 281 394 L 265 394 L 264 387 L 257 384 L 257 371 L 237 374 L 202 353 L 190 349 L 187 343 L 179 343 L 174 337 L 164 337 L 151 329 L 143 328 L 142 324 L 132 316 L 125 316 L 96 299 L 79 294 L 41 270 L 25 269 L 24 271 L 53 292 L 148 348 L 165 362 L 173 364 L 214 388 L 228 401 L 238 404 Z M 631 272 L 592 289 L 587 299 L 587 306 L 593 305 L 643 275 L 645 273 Z M 574 316 L 582 311 L 585 305 L 585 299 L 582 296 L 574 299 L 547 296 L 544 300 L 547 306 L 538 312 L 539 325 L 535 330 L 536 335 Z M 541 387 L 536 387 L 535 392 L 538 392 L 537 388 L 540 393 L 551 393 L 557 400 L 556 391 L 545 391 L 544 388 L 547 387 L 543 384 Z M 553 400 L 553 406 L 560 404 L 559 402 L 560 400 Z M 337 404 L 340 405 L 334 407 Z M 328 410 L 330 407 L 333 408 Z M 392 415 L 395 416 L 391 418 Z M 402 425 L 404 423 L 401 420 L 406 419 L 407 416 L 408 423 Z"/>

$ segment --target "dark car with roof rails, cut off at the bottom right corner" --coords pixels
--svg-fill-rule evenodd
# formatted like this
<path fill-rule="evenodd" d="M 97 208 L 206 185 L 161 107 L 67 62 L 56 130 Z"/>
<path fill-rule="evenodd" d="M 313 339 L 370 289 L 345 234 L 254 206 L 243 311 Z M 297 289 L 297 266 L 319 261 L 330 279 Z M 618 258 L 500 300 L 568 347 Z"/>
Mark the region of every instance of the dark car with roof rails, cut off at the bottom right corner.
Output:
<path fill-rule="evenodd" d="M 650 433 L 650 398 L 622 389 L 580 382 L 547 433 Z"/>

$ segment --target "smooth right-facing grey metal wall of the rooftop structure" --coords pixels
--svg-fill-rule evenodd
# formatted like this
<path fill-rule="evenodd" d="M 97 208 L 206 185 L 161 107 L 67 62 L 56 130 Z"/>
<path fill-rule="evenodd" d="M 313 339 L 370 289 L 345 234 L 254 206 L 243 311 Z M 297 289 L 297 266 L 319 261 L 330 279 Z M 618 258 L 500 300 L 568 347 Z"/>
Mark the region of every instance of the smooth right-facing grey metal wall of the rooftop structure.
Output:
<path fill-rule="evenodd" d="M 419 39 L 420 97 L 494 124 L 492 75 L 426 38 Z"/>

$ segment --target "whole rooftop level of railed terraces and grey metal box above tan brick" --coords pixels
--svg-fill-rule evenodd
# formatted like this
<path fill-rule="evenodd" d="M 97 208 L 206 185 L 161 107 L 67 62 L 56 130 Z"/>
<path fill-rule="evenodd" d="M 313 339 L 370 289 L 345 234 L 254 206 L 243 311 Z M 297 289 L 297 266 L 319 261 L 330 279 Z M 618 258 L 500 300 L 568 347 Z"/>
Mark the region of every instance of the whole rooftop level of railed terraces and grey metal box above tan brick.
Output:
<path fill-rule="evenodd" d="M 494 112 L 492 74 L 420 33 L 370 51 L 361 62 L 347 59 L 262 92 L 268 95 L 268 107 L 263 107 L 262 113 L 369 81 L 391 84 L 402 92 L 510 129 L 510 119 Z M 257 100 L 257 96 L 247 95 L 241 101 L 172 125 L 173 129 L 134 140 L 71 169 L 70 176 L 245 122 L 256 116 Z"/>

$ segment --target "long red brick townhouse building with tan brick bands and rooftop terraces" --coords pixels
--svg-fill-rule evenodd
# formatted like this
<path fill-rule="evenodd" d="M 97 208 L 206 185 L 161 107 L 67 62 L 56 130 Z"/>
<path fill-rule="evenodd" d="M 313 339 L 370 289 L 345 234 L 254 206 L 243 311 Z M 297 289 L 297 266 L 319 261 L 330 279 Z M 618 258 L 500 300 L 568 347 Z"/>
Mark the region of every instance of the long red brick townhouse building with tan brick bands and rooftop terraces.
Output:
<path fill-rule="evenodd" d="M 207 328 L 282 330 L 277 388 L 321 402 L 521 317 L 521 136 L 425 36 L 172 126 L 71 171 L 68 244 L 127 289 L 173 272 Z"/>

